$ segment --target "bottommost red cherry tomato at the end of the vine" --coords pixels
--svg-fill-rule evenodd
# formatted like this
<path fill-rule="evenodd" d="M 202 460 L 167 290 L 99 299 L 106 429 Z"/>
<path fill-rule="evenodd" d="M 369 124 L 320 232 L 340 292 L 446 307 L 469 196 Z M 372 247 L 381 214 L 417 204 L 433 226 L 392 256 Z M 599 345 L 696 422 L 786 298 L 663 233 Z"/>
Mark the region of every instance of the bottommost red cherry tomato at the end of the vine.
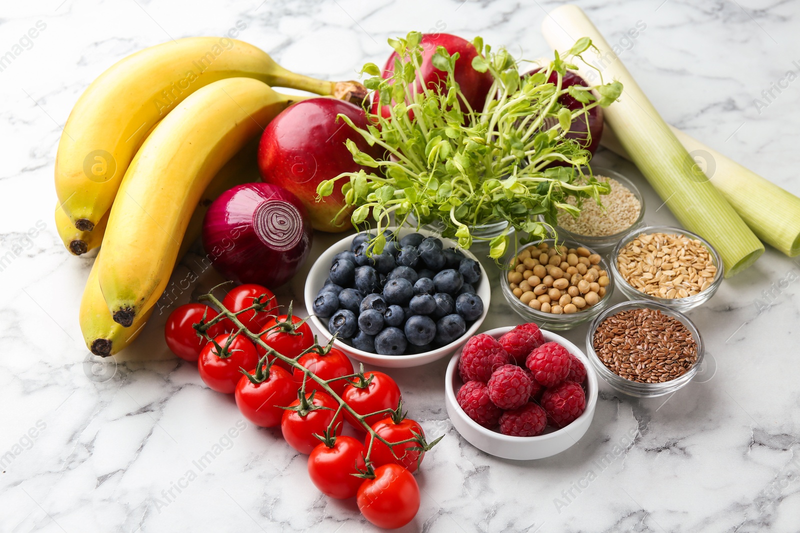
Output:
<path fill-rule="evenodd" d="M 358 509 L 378 527 L 395 529 L 414 519 L 419 511 L 419 486 L 410 471 L 399 464 L 375 468 L 375 479 L 358 487 Z"/>

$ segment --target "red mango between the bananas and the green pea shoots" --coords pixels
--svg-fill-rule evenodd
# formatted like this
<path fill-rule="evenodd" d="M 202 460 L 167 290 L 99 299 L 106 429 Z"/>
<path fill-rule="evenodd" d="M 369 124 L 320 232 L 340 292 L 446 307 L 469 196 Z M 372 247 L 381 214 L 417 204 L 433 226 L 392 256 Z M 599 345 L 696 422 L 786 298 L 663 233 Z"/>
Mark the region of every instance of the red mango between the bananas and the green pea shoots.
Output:
<path fill-rule="evenodd" d="M 337 119 L 342 113 L 354 125 L 366 129 L 366 113 L 357 105 L 334 98 L 310 98 L 298 101 L 275 117 L 264 129 L 258 145 L 258 169 L 264 181 L 294 193 L 309 213 L 314 229 L 342 232 L 350 229 L 352 209 L 334 221 L 345 205 L 342 185 L 336 182 L 334 193 L 316 201 L 317 185 L 344 172 L 374 172 L 353 161 L 345 145 L 352 139 L 358 149 L 380 157 L 377 146 L 370 146 L 345 121 Z"/>

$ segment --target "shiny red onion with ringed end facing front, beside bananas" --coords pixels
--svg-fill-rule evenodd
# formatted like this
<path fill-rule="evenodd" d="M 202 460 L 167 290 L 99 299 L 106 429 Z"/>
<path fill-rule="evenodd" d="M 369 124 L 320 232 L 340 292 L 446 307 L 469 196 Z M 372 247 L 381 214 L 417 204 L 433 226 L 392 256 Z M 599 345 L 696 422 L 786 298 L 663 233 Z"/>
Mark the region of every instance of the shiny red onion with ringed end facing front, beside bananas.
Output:
<path fill-rule="evenodd" d="M 246 183 L 210 205 L 202 243 L 222 276 L 274 288 L 286 283 L 306 260 L 312 235 L 298 197 L 278 185 Z"/>

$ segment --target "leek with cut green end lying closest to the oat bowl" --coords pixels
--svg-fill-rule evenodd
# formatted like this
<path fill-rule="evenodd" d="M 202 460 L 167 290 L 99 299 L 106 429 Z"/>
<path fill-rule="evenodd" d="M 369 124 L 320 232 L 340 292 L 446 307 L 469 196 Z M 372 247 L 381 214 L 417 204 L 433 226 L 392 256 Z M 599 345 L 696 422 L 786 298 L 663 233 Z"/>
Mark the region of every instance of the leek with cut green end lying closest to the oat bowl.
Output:
<path fill-rule="evenodd" d="M 622 95 L 604 109 L 606 122 L 678 221 L 717 249 L 725 276 L 734 276 L 764 253 L 764 245 L 714 185 L 698 172 L 694 159 L 647 99 L 611 46 L 578 6 L 561 6 L 542 22 L 551 47 L 569 50 L 577 38 L 594 45 L 578 72 L 590 81 L 602 66 L 604 77 L 622 82 Z M 582 58 L 583 59 L 583 58 Z M 570 68 L 572 68 L 570 66 Z"/>

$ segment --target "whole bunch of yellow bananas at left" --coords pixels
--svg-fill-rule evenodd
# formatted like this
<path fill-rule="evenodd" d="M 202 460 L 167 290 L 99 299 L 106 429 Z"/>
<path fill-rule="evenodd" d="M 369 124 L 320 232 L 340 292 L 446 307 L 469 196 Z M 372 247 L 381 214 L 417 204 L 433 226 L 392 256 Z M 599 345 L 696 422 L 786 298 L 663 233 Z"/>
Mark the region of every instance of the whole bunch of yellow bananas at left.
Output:
<path fill-rule="evenodd" d="M 102 244 L 80 309 L 95 355 L 134 340 L 198 238 L 210 201 L 250 181 L 240 172 L 244 156 L 234 155 L 306 99 L 270 86 L 352 101 L 366 95 L 357 82 L 294 74 L 246 42 L 224 41 L 184 38 L 122 59 L 66 122 L 55 162 L 56 226 L 75 255 Z"/>

